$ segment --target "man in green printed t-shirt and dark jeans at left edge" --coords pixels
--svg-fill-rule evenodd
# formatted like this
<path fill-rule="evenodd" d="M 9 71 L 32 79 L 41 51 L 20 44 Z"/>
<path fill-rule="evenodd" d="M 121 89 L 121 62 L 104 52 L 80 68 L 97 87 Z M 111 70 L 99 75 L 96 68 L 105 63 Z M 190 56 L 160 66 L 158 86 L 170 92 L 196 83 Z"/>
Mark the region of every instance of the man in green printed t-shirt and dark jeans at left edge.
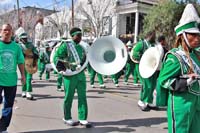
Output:
<path fill-rule="evenodd" d="M 4 24 L 0 39 L 0 104 L 3 99 L 2 116 L 0 118 L 0 132 L 6 132 L 11 118 L 12 108 L 17 90 L 17 66 L 21 73 L 22 84 L 25 84 L 24 56 L 18 44 L 11 41 L 12 26 Z M 4 98 L 2 92 L 4 91 Z"/>

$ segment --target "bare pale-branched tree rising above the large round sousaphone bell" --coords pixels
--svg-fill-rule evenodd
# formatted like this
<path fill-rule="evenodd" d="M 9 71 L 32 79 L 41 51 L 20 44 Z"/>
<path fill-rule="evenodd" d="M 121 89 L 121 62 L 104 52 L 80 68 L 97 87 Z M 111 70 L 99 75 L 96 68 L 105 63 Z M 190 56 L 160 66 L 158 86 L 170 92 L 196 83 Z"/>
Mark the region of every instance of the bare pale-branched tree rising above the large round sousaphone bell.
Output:
<path fill-rule="evenodd" d="M 100 37 L 115 15 L 115 0 L 78 0 L 75 10 L 87 20 L 91 34 Z"/>

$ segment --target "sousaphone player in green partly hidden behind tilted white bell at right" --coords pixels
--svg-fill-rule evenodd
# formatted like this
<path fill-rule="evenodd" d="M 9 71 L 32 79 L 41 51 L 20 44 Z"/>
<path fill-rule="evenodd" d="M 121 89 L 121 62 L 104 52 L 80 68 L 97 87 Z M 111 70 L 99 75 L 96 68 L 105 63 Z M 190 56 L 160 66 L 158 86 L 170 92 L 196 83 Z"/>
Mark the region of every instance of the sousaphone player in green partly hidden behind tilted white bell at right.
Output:
<path fill-rule="evenodd" d="M 139 41 L 135 44 L 133 47 L 133 55 L 132 59 L 135 60 L 136 68 L 139 67 L 139 61 L 143 55 L 143 53 L 149 48 L 155 45 L 155 31 L 147 33 L 144 40 Z M 139 69 L 137 70 L 139 73 Z M 142 90 L 140 92 L 140 100 L 138 101 L 138 106 L 142 111 L 150 111 L 151 108 L 153 108 L 150 104 L 153 102 L 153 91 L 156 87 L 156 81 L 157 81 L 157 72 L 155 72 L 151 77 L 149 78 L 142 78 L 139 75 L 141 84 L 142 84 Z"/>

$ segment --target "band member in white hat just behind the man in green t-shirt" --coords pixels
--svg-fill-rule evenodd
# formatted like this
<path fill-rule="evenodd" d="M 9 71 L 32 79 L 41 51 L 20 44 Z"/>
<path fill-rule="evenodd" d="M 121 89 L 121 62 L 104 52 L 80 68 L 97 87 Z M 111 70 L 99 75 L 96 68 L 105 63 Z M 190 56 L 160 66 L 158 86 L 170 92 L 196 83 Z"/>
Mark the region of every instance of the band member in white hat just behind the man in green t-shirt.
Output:
<path fill-rule="evenodd" d="M 26 59 L 27 56 L 30 56 L 28 53 L 28 51 L 31 51 L 33 53 L 33 59 L 38 59 L 38 51 L 36 50 L 36 48 L 33 46 L 33 44 L 31 42 L 28 42 L 28 35 L 27 33 L 20 33 L 19 35 L 17 35 L 18 37 L 18 43 L 22 48 L 24 57 Z M 28 57 L 29 58 L 29 57 Z M 36 63 L 37 65 L 37 63 Z M 28 100 L 33 100 L 34 97 L 32 96 L 31 92 L 32 92 L 32 74 L 30 74 L 27 70 L 27 68 L 25 68 L 25 77 L 26 77 L 26 84 L 24 84 L 22 86 L 22 97 L 23 98 L 27 98 Z"/>

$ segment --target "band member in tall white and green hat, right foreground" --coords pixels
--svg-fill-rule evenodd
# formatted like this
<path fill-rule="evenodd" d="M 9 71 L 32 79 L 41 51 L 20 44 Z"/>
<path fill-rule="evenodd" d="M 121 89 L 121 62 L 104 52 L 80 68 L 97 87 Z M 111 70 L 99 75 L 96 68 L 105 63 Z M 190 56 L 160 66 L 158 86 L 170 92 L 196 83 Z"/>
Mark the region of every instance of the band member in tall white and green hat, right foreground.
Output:
<path fill-rule="evenodd" d="M 169 133 L 200 132 L 200 56 L 195 48 L 200 46 L 199 16 L 188 4 L 179 24 L 175 27 L 175 45 L 170 50 L 160 71 L 158 86 L 168 96 L 167 118 Z M 187 75 L 188 78 L 181 78 Z"/>

